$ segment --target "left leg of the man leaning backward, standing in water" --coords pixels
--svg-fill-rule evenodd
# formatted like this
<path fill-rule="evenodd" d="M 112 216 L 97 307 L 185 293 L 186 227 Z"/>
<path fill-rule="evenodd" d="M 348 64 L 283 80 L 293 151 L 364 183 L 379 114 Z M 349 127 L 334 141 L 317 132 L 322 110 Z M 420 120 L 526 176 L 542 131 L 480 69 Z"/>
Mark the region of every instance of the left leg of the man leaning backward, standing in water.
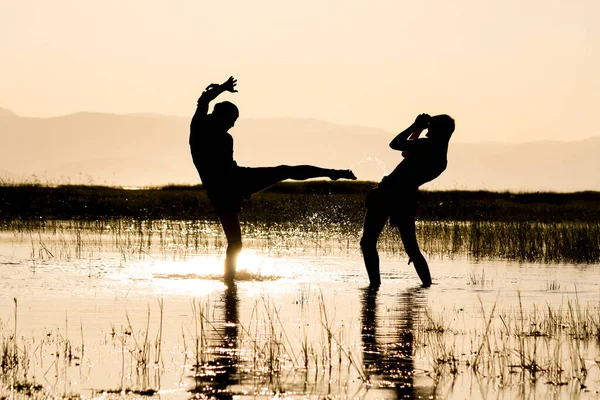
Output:
<path fill-rule="evenodd" d="M 379 254 L 377 253 L 377 240 L 383 231 L 388 216 L 378 210 L 368 209 L 365 217 L 365 226 L 363 236 L 360 239 L 360 248 L 365 260 L 367 274 L 371 286 L 379 286 L 381 277 L 379 276 Z"/>

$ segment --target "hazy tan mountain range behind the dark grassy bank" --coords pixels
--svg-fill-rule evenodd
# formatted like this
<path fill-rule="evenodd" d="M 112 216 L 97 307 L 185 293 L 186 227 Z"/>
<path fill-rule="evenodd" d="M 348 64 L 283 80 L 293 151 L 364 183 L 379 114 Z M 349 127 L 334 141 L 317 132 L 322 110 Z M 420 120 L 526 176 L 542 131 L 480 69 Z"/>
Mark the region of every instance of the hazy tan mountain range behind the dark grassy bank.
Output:
<path fill-rule="evenodd" d="M 402 129 L 403 127 L 399 127 Z M 378 181 L 401 160 L 394 132 L 320 120 L 241 119 L 230 131 L 244 166 L 314 164 L 351 168 Z M 20 117 L 0 108 L 0 180 L 118 186 L 199 183 L 189 119 L 81 112 Z M 572 142 L 451 142 L 448 170 L 429 189 L 600 190 L 600 137 Z"/>

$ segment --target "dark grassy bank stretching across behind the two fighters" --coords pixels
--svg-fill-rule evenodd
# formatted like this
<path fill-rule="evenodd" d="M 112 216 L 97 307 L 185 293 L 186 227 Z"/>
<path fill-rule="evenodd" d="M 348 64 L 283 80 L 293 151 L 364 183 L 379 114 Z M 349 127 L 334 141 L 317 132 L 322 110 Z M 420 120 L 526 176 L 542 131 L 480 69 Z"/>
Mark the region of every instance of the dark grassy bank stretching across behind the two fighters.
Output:
<path fill-rule="evenodd" d="M 245 202 L 246 222 L 293 222 L 311 217 L 360 223 L 364 196 L 375 182 L 284 182 Z M 425 221 L 600 222 L 600 193 L 421 191 Z M 104 218 L 215 220 L 201 185 L 123 189 L 80 185 L 0 186 L 0 220 Z"/>

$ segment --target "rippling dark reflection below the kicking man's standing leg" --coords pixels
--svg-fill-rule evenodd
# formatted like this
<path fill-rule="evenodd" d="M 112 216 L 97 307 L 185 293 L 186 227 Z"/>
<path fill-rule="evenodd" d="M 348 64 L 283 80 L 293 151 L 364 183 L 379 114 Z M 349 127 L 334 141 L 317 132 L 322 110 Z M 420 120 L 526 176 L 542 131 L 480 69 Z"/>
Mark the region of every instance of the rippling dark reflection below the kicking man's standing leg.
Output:
<path fill-rule="evenodd" d="M 212 331 L 221 343 L 214 349 L 215 355 L 208 365 L 196 368 L 195 387 L 190 391 L 194 398 L 231 399 L 235 394 L 231 388 L 240 381 L 237 371 L 239 298 L 235 284 L 225 289 L 215 308 L 221 307 L 223 320 L 215 321 L 210 328 L 214 328 Z"/>

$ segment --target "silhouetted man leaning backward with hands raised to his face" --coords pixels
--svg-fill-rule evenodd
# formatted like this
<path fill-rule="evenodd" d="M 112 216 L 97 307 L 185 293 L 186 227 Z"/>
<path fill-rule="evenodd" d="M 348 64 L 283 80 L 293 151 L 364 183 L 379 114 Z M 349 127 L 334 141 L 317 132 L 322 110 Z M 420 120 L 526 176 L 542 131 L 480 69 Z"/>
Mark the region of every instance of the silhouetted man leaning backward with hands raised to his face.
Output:
<path fill-rule="evenodd" d="M 426 137 L 419 139 L 425 129 Z M 448 142 L 453 132 L 454 120 L 448 115 L 421 114 L 391 141 L 390 147 L 402 151 L 404 160 L 367 195 L 367 215 L 360 241 L 371 285 L 381 283 L 377 240 L 388 219 L 392 226 L 398 227 L 409 264 L 413 262 L 423 286 L 431 285 L 429 266 L 419 250 L 415 232 L 417 193 L 419 186 L 446 169 Z"/>

